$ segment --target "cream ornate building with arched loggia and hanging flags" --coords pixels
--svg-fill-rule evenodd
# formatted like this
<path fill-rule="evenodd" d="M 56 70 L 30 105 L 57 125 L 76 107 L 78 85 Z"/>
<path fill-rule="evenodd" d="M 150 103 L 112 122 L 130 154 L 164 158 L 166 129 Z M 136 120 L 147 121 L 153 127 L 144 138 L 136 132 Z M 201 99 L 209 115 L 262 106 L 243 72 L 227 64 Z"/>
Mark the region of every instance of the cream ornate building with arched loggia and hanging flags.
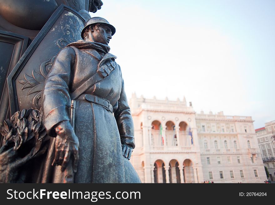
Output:
<path fill-rule="evenodd" d="M 143 183 L 263 183 L 266 174 L 251 117 L 196 114 L 179 99 L 129 100 Z M 191 138 L 192 135 L 192 138 Z"/>

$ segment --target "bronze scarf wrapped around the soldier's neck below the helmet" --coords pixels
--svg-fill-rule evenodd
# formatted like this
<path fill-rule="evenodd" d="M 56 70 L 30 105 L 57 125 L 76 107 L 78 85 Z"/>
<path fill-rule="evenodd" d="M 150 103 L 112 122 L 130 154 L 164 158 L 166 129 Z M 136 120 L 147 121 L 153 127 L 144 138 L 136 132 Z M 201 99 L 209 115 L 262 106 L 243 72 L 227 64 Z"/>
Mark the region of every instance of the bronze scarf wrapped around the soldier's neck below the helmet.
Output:
<path fill-rule="evenodd" d="M 95 49 L 99 53 L 106 54 L 110 51 L 110 46 L 103 44 L 103 43 L 98 43 L 98 42 L 90 42 L 90 41 L 77 41 L 68 44 L 66 47 L 69 46 L 75 46 L 78 49 Z"/>

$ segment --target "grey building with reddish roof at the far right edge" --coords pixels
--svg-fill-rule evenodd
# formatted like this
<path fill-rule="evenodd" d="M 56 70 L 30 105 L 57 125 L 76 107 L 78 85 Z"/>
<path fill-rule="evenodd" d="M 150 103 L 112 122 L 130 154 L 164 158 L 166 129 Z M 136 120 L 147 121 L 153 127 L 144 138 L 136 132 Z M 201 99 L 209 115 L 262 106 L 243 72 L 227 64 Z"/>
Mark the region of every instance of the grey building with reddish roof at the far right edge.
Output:
<path fill-rule="evenodd" d="M 262 161 L 269 172 L 269 179 L 275 181 L 275 121 L 265 123 L 265 126 L 255 129 L 259 148 L 262 154 Z"/>

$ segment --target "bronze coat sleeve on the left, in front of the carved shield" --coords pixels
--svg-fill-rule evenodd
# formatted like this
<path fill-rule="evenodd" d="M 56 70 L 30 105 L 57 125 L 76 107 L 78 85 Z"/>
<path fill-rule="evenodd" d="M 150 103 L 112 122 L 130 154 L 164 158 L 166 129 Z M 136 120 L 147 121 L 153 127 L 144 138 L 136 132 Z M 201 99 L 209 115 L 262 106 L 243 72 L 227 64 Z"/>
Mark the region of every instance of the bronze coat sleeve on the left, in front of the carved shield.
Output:
<path fill-rule="evenodd" d="M 53 130 L 54 126 L 59 122 L 70 120 L 69 84 L 74 62 L 74 49 L 64 48 L 58 53 L 45 81 L 42 94 L 43 122 L 47 133 L 53 137 L 56 135 Z"/>

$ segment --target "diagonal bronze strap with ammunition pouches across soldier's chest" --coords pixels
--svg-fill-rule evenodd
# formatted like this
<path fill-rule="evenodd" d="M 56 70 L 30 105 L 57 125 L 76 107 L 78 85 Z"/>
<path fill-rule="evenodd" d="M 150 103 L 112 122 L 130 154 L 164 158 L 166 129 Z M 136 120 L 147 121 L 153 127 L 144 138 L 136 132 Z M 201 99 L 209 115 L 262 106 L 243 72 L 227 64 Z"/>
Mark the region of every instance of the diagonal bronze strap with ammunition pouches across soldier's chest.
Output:
<path fill-rule="evenodd" d="M 79 95 L 86 92 L 94 84 L 109 76 L 116 67 L 116 63 L 113 61 L 113 59 L 115 58 L 117 57 L 113 54 L 106 53 L 101 61 L 99 61 L 98 63 L 97 72 L 82 85 L 80 85 L 75 91 L 73 91 L 73 93 L 71 93 L 71 100 L 77 99 Z"/>

